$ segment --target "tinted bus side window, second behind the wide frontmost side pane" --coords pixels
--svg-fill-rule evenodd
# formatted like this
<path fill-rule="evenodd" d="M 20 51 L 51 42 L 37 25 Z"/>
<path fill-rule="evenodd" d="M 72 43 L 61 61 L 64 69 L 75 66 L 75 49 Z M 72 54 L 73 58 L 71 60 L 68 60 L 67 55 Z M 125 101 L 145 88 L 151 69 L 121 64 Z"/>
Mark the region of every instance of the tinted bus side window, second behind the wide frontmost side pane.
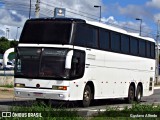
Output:
<path fill-rule="evenodd" d="M 113 51 L 120 51 L 120 35 L 115 32 L 111 32 L 111 49 Z"/>

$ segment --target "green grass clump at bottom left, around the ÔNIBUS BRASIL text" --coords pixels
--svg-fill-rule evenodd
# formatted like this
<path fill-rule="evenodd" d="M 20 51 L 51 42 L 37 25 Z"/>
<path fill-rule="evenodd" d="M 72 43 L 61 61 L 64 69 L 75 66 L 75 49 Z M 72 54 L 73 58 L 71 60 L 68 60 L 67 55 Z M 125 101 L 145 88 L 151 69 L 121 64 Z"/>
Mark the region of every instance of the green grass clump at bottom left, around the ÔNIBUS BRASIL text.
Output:
<path fill-rule="evenodd" d="M 29 106 L 28 106 L 29 104 Z M 77 111 L 64 109 L 64 108 L 54 108 L 51 105 L 46 105 L 44 102 L 31 102 L 27 103 L 27 106 L 13 106 L 10 111 L 13 113 L 12 120 L 83 120 L 77 114 Z M 21 114 L 18 114 L 21 113 Z M 35 114 L 34 114 L 35 113 Z M 23 117 L 15 117 L 23 116 Z M 5 120 L 10 120 L 11 118 L 5 118 Z"/>

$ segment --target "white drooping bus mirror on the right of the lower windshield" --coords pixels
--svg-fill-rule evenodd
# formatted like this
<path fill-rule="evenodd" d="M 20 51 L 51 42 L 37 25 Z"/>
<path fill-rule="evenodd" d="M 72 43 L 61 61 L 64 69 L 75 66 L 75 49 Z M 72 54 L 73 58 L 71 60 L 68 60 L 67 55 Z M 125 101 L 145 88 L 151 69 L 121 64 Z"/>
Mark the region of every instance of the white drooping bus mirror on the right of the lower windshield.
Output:
<path fill-rule="evenodd" d="M 73 56 L 73 50 L 70 50 L 66 56 L 66 62 L 65 62 L 66 69 L 71 69 L 72 56 Z"/>

